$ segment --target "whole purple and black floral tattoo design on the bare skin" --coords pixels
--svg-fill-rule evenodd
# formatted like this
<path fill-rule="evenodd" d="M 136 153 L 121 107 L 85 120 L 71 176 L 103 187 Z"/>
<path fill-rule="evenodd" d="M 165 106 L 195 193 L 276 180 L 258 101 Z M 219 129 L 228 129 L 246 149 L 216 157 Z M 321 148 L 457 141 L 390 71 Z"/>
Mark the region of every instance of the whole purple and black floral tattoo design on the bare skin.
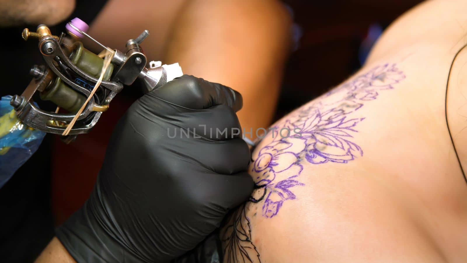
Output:
<path fill-rule="evenodd" d="M 303 170 L 301 163 L 345 164 L 363 156 L 363 150 L 353 141 L 353 134 L 358 132 L 357 124 L 365 118 L 350 117 L 351 114 L 360 110 L 365 102 L 375 100 L 382 90 L 393 89 L 393 85 L 404 78 L 395 64 L 376 66 L 273 125 L 267 135 L 272 135 L 273 139 L 259 149 L 253 160 L 251 172 L 257 175 L 253 178 L 256 190 L 248 201 L 251 202 L 249 207 L 262 203 L 262 216 L 273 218 L 285 201 L 297 198 L 293 188 L 304 185 L 299 181 Z M 290 131 L 288 136 L 281 136 L 283 128 Z M 279 181 L 277 178 L 283 178 L 280 175 L 285 172 L 291 176 Z M 243 205 L 222 232 L 226 262 L 261 262 L 251 241 L 248 210 L 247 205 Z"/>

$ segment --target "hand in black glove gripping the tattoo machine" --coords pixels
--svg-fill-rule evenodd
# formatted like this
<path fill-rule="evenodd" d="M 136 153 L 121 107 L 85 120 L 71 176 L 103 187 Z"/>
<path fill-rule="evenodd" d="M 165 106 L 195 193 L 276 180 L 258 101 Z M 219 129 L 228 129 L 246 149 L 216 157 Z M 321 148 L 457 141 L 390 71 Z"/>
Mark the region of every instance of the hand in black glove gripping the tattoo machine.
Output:
<path fill-rule="evenodd" d="M 241 106 L 236 91 L 187 75 L 134 102 L 91 196 L 57 229 L 71 256 L 167 262 L 219 227 L 254 185 L 235 115 Z"/>

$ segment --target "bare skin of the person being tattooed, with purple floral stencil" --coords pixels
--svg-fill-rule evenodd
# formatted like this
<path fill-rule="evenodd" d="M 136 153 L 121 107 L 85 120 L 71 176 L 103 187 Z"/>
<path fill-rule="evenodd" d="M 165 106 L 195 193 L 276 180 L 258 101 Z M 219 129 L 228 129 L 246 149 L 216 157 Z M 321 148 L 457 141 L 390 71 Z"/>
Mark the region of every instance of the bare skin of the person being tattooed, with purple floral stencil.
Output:
<path fill-rule="evenodd" d="M 354 76 L 272 126 L 301 134 L 256 146 L 257 189 L 221 231 L 224 262 L 465 262 L 467 183 L 445 95 L 466 11 L 415 7 Z M 464 167 L 465 64 L 466 49 L 447 94 Z"/>

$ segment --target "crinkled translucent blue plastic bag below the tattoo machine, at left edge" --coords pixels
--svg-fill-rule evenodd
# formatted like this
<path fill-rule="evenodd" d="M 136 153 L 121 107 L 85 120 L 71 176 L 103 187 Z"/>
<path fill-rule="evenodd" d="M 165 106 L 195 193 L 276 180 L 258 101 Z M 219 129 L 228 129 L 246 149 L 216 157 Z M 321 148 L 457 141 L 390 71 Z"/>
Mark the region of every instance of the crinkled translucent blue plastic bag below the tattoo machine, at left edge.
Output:
<path fill-rule="evenodd" d="M 10 95 L 0 100 L 0 188 L 35 153 L 45 136 L 21 123 L 10 100 Z"/>

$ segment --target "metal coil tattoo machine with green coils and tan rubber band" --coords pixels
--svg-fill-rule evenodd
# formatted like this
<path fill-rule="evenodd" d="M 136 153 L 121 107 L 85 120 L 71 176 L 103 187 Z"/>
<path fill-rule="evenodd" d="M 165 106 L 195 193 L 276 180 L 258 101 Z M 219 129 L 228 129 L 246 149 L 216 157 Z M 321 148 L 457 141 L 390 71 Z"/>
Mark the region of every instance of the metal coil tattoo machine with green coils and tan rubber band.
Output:
<path fill-rule="evenodd" d="M 64 141 L 69 142 L 92 129 L 123 85 L 141 79 L 147 93 L 182 75 L 178 63 L 162 65 L 151 61 L 146 67 L 147 58 L 140 44 L 149 35 L 148 30 L 128 40 L 126 51 L 122 52 L 109 49 L 86 34 L 88 26 L 78 18 L 71 20 L 66 29 L 68 34 L 62 32 L 59 37 L 53 36 L 46 25 L 39 25 L 37 32 L 22 32 L 24 40 L 38 38 L 45 65 L 31 68 L 33 79 L 21 95 L 12 97 L 10 104 L 21 122 L 33 129 L 62 134 Z M 85 49 L 80 41 L 83 37 L 99 44 L 107 58 L 103 52 L 97 55 Z M 57 110 L 39 109 L 32 100 L 36 92 L 41 100 L 55 103 Z M 67 113 L 59 113 L 59 109 Z"/>

